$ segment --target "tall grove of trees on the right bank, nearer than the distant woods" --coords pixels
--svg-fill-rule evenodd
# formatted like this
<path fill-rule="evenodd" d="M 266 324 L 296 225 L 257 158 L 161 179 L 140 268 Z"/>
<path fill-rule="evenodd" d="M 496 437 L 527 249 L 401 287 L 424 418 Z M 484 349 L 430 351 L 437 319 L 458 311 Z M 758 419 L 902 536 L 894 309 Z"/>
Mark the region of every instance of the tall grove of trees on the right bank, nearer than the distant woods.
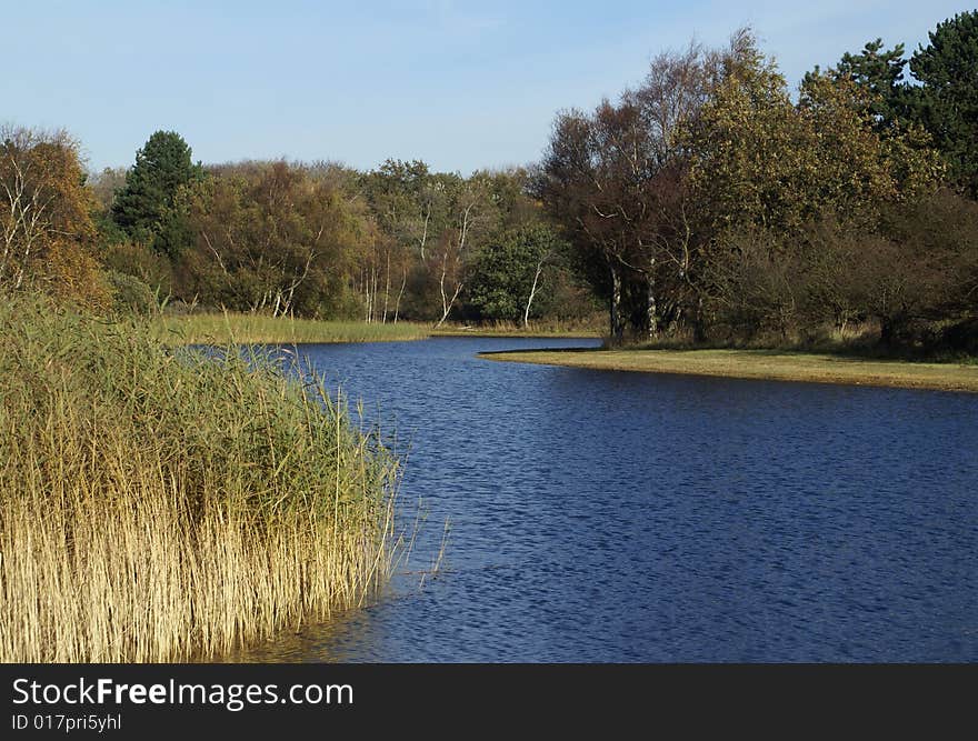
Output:
<path fill-rule="evenodd" d="M 745 30 L 558 116 L 535 188 L 611 337 L 978 350 L 978 12 L 907 62 L 871 41 L 792 100 Z"/>

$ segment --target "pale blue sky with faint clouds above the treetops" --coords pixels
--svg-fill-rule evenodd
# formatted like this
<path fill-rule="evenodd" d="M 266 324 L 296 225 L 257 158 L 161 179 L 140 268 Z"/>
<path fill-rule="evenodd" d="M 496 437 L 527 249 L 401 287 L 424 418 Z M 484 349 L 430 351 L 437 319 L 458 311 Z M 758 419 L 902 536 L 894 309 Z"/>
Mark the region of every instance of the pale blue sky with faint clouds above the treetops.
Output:
<path fill-rule="evenodd" d="M 157 129 L 194 159 L 388 157 L 470 172 L 537 159 L 555 113 L 639 81 L 660 51 L 751 24 L 795 84 L 882 37 L 908 50 L 967 6 L 789 3 L 8 2 L 0 121 L 67 128 L 89 167 Z M 12 64 L 12 73 L 11 73 Z"/>

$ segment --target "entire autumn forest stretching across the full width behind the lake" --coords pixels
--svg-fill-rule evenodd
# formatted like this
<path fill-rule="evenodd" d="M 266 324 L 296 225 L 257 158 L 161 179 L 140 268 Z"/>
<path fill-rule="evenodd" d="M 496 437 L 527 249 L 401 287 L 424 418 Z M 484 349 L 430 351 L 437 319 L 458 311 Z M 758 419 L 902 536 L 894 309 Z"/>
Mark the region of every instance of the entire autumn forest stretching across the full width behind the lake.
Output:
<path fill-rule="evenodd" d="M 0 283 L 99 312 L 978 352 L 978 11 L 797 91 L 750 30 L 691 43 L 557 113 L 538 162 L 469 176 L 203 164 L 176 131 L 91 173 L 64 131 L 0 141 Z"/>

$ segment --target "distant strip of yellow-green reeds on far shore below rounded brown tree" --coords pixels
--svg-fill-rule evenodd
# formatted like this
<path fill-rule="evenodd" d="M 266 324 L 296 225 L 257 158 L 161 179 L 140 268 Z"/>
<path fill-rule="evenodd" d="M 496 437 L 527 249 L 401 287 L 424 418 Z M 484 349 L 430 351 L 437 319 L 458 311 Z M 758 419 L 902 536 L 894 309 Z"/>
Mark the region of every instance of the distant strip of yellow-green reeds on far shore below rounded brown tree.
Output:
<path fill-rule="evenodd" d="M 153 319 L 156 334 L 164 342 L 187 344 L 301 344 L 303 342 L 386 342 L 421 340 L 430 328 L 411 322 L 366 323 L 317 321 L 242 313 L 162 316 Z"/>

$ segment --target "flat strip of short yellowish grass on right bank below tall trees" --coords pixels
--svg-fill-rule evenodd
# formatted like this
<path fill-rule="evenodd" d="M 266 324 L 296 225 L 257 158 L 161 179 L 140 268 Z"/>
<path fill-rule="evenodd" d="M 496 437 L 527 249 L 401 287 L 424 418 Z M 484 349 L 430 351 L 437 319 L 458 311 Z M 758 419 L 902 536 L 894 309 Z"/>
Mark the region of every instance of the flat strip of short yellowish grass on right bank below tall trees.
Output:
<path fill-rule="evenodd" d="M 978 366 L 869 360 L 774 350 L 545 350 L 495 352 L 485 353 L 483 357 L 647 373 L 978 392 Z"/>

